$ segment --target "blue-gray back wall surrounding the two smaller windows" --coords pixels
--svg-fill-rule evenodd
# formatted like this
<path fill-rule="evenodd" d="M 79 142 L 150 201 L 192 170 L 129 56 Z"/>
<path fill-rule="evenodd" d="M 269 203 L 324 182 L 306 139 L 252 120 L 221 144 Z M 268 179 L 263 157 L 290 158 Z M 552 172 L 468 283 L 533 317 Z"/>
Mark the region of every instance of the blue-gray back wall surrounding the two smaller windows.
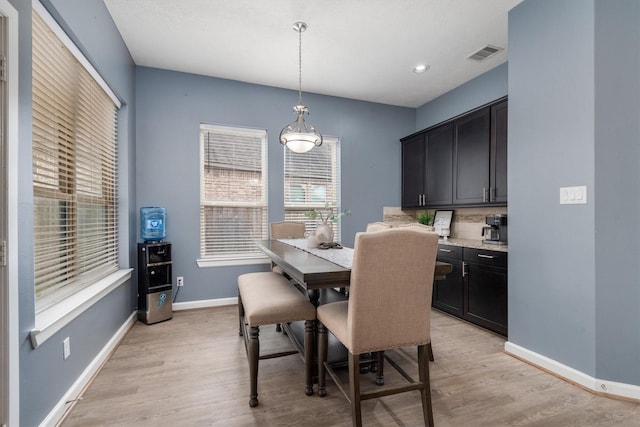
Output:
<path fill-rule="evenodd" d="M 173 275 L 183 276 L 177 302 L 235 297 L 238 274 L 266 265 L 199 268 L 199 125 L 266 129 L 269 221 L 284 217 L 284 154 L 278 141 L 293 121 L 297 93 L 173 71 L 139 67 L 137 97 L 138 208 L 167 208 Z M 341 143 L 342 241 L 382 220 L 384 206 L 399 206 L 399 138 L 413 132 L 415 110 L 303 93 L 309 122 Z M 139 237 L 138 237 L 139 239 Z"/>

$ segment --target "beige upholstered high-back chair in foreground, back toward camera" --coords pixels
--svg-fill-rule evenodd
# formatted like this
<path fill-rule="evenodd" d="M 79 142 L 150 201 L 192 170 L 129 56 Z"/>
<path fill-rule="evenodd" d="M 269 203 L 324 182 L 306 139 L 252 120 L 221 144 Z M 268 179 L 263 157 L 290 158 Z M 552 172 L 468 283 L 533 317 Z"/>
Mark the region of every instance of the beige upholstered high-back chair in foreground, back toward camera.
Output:
<path fill-rule="evenodd" d="M 326 373 L 351 403 L 354 426 L 362 425 L 360 402 L 419 390 L 425 424 L 433 426 L 427 345 L 438 236 L 403 227 L 357 233 L 348 301 L 320 305 L 318 319 L 318 395 L 326 395 Z M 327 363 L 328 334 L 348 350 L 349 394 Z M 419 380 L 414 381 L 385 350 L 417 346 Z M 360 355 L 379 352 L 409 381 L 361 393 Z"/>

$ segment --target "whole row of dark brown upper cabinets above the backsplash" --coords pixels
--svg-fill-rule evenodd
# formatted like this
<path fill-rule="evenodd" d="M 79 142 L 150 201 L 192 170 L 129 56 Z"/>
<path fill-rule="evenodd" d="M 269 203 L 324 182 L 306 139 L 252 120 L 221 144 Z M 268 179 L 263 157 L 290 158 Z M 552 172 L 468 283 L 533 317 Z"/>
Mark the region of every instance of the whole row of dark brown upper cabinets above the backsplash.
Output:
<path fill-rule="evenodd" d="M 403 208 L 506 205 L 506 100 L 400 141 Z"/>

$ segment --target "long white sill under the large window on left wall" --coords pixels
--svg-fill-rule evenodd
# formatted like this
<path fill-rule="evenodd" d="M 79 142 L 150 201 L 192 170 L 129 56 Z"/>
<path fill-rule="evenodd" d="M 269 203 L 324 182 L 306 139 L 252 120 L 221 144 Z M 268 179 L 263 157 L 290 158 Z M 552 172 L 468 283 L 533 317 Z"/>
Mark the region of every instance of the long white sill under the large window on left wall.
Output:
<path fill-rule="evenodd" d="M 132 268 L 119 270 L 36 314 L 35 327 L 29 333 L 31 346 L 38 348 L 102 297 L 129 280 L 132 271 Z"/>

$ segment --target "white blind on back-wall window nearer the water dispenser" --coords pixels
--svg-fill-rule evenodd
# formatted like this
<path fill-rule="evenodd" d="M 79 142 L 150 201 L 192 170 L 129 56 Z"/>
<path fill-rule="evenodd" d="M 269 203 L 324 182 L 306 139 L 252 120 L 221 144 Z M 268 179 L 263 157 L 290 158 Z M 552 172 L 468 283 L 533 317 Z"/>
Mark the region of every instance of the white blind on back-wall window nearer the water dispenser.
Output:
<path fill-rule="evenodd" d="M 201 125 L 200 257 L 262 256 L 267 197 L 266 131 Z"/>

